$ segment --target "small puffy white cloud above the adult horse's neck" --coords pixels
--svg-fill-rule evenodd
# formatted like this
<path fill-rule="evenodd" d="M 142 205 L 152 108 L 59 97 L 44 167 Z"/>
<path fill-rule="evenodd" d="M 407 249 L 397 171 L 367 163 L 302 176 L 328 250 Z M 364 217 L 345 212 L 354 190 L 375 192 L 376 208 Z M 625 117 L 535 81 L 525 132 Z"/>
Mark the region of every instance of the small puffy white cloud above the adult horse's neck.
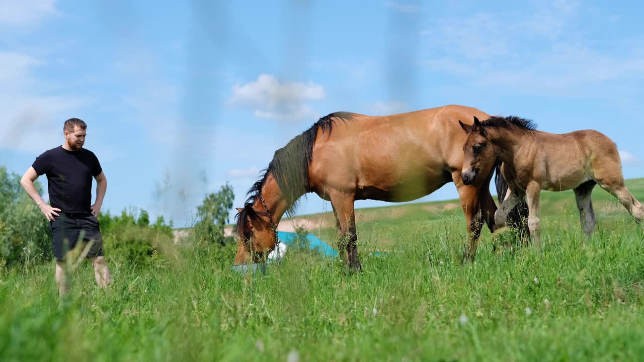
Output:
<path fill-rule="evenodd" d="M 233 86 L 229 104 L 250 108 L 258 118 L 301 119 L 312 114 L 307 101 L 325 97 L 319 84 L 281 83 L 272 75 L 261 74 L 257 81 Z"/>

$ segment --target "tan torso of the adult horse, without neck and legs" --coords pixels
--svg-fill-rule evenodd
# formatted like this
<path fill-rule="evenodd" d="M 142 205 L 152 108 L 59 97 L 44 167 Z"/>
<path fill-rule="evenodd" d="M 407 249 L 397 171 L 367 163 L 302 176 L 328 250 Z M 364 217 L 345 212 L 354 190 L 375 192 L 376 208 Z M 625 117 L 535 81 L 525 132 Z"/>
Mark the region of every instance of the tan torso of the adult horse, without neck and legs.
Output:
<path fill-rule="evenodd" d="M 458 121 L 471 123 L 473 116 L 487 117 L 465 106 L 384 116 L 354 113 L 317 138 L 312 175 L 321 185 L 354 188 L 357 198 L 419 198 L 450 182 L 451 169 L 462 167 L 465 133 Z"/>

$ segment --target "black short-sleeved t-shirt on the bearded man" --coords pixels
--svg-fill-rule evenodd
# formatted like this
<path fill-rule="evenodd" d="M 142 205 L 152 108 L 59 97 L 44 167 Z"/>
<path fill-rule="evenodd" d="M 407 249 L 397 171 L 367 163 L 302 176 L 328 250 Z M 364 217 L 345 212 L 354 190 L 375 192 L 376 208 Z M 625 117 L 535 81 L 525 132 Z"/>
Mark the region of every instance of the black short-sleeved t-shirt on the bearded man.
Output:
<path fill-rule="evenodd" d="M 38 175 L 47 175 L 49 201 L 63 213 L 90 213 L 91 177 L 102 172 L 93 152 L 62 146 L 45 151 L 32 165 Z"/>

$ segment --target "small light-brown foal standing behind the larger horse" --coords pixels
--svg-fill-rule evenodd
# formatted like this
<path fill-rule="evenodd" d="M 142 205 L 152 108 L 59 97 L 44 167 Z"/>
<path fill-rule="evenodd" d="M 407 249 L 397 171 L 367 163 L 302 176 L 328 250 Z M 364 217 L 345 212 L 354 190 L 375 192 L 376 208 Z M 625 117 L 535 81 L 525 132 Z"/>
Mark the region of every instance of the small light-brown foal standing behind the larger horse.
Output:
<path fill-rule="evenodd" d="M 460 122 L 460 121 L 459 121 Z M 603 133 L 586 129 L 564 134 L 537 131 L 518 117 L 491 117 L 472 126 L 460 122 L 467 138 L 463 150 L 463 183 L 488 177 L 481 170 L 500 160 L 501 173 L 509 186 L 495 213 L 495 231 L 506 226 L 507 213 L 527 194 L 528 227 L 540 247 L 539 195 L 541 190 L 574 190 L 583 232 L 587 237 L 597 223 L 592 210 L 592 188 L 599 184 L 634 216 L 644 222 L 644 205 L 629 192 L 621 174 L 620 153 Z"/>

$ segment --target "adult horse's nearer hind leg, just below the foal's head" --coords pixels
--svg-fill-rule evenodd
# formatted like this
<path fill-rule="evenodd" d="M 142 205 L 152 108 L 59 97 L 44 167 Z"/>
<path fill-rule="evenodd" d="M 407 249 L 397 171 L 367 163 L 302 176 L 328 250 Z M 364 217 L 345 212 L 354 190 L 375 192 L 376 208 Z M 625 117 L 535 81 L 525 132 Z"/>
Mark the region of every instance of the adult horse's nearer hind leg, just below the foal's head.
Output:
<path fill-rule="evenodd" d="M 478 236 L 480 236 L 483 226 L 479 188 L 463 184 L 460 171 L 455 171 L 452 178 L 457 191 L 459 191 L 460 206 L 463 208 L 465 222 L 468 226 L 468 244 L 463 249 L 463 263 L 473 262 L 477 254 Z"/>

